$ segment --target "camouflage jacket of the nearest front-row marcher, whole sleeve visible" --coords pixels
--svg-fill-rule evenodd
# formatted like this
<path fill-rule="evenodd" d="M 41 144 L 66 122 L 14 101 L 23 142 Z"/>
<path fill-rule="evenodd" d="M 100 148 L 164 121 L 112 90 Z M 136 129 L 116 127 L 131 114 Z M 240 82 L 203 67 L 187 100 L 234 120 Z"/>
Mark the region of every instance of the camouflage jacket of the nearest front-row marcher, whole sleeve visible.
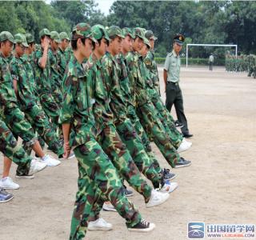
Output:
<path fill-rule="evenodd" d="M 70 123 L 70 146 L 79 146 L 96 134 L 89 93 L 88 76 L 74 56 L 63 78 L 64 98 L 59 123 Z"/>

